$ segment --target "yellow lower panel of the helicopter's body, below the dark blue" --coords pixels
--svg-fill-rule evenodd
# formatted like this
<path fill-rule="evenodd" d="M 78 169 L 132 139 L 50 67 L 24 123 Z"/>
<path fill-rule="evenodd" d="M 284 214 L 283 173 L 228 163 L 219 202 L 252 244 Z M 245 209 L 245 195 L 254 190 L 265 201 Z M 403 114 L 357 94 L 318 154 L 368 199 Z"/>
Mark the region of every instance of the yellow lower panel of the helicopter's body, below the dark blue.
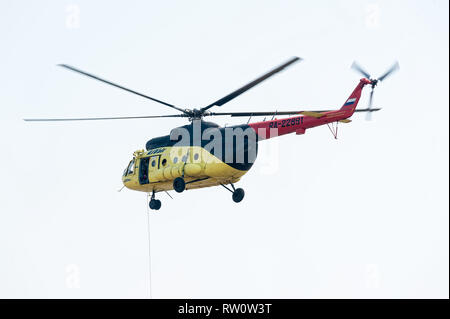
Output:
<path fill-rule="evenodd" d="M 222 162 L 200 146 L 162 147 L 135 153 L 131 174 L 124 175 L 125 187 L 141 191 L 167 191 L 173 189 L 173 180 L 184 177 L 186 189 L 203 188 L 237 182 L 247 171 L 238 170 Z M 148 183 L 141 184 L 141 160 L 148 159 Z"/>

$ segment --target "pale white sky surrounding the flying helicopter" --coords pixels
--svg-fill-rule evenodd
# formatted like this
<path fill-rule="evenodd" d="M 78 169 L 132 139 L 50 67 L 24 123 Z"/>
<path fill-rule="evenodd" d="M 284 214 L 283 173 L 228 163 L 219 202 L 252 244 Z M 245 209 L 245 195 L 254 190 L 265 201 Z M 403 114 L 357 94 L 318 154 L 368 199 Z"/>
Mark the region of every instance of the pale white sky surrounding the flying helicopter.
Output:
<path fill-rule="evenodd" d="M 354 59 L 374 76 L 396 59 L 401 70 L 376 89 L 383 110 L 355 115 L 338 140 L 319 127 L 262 143 L 240 204 L 221 187 L 158 194 L 153 297 L 448 298 L 448 10 L 2 1 L 0 297 L 149 297 L 146 195 L 117 190 L 132 152 L 186 121 L 23 122 L 172 113 L 57 63 L 202 107 L 298 55 L 216 111 L 339 108 Z"/>

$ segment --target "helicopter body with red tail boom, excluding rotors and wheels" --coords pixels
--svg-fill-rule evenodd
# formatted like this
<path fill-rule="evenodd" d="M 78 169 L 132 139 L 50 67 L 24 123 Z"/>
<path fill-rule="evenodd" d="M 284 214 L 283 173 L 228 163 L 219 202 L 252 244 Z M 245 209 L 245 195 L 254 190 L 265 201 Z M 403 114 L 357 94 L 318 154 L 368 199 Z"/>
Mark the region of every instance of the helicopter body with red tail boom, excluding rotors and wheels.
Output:
<path fill-rule="evenodd" d="M 361 79 L 341 109 L 327 112 L 301 112 L 300 116 L 219 127 L 193 120 L 175 128 L 170 135 L 149 140 L 146 150 L 136 151 L 125 169 L 125 187 L 142 192 L 173 189 L 180 177 L 185 189 L 232 184 L 253 166 L 258 142 L 333 122 L 350 122 L 367 79 Z"/>

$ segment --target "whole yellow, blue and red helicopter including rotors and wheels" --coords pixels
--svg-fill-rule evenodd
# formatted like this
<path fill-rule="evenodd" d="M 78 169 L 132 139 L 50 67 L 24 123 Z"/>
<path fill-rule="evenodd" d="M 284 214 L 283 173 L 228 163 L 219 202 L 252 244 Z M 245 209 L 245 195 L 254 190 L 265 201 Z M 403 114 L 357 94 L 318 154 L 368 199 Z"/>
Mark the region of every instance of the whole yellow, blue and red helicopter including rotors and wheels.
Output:
<path fill-rule="evenodd" d="M 372 112 L 380 110 L 380 108 L 372 107 L 374 89 L 379 82 L 383 81 L 399 69 L 399 64 L 396 62 L 380 77 L 371 78 L 370 74 L 359 64 L 353 62 L 351 68 L 362 74 L 363 78 L 359 80 L 342 107 L 336 110 L 270 112 L 210 111 L 211 108 L 223 106 L 242 93 L 301 60 L 302 59 L 299 57 L 292 57 L 285 63 L 263 74 L 252 82 L 199 109 L 184 109 L 115 84 L 73 66 L 58 64 L 58 66 L 65 69 L 165 105 L 171 109 L 177 110 L 179 113 L 169 115 L 95 118 L 34 118 L 24 119 L 24 121 L 45 122 L 187 118 L 189 124 L 172 129 L 169 135 L 150 139 L 146 143 L 145 149 L 133 153 L 132 159 L 122 174 L 123 187 L 149 194 L 149 196 L 151 196 L 149 206 L 152 210 L 159 210 L 161 208 L 161 201 L 156 199 L 156 194 L 159 192 L 175 190 L 177 193 L 182 193 L 185 190 L 211 186 L 223 186 L 232 193 L 233 201 L 239 203 L 243 200 L 245 192 L 242 188 L 236 188 L 234 184 L 237 183 L 254 164 L 258 153 L 259 142 L 290 133 L 302 135 L 305 134 L 307 129 L 322 125 L 328 125 L 334 138 L 337 138 L 338 123 L 351 122 L 350 117 L 354 112 L 366 112 L 368 119 L 370 119 Z M 366 85 L 369 85 L 372 88 L 368 107 L 356 109 L 362 90 Z M 286 115 L 288 116 L 286 118 L 277 118 L 278 116 Z M 249 117 L 249 120 L 246 124 L 221 127 L 213 122 L 203 120 L 205 117 L 212 116 Z M 272 116 L 272 118 L 270 120 L 264 118 L 263 121 L 250 123 L 250 119 L 255 116 Z"/>

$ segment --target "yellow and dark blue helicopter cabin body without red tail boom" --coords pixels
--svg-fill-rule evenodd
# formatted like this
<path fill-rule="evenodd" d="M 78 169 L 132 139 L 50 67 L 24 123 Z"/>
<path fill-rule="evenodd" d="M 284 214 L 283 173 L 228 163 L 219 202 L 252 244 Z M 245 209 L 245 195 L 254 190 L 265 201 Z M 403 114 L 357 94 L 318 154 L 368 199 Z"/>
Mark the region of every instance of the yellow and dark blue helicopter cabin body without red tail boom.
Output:
<path fill-rule="evenodd" d="M 192 121 L 136 151 L 122 181 L 129 189 L 155 193 L 173 189 L 177 177 L 186 189 L 236 183 L 254 164 L 257 149 L 258 137 L 249 125 Z"/>

